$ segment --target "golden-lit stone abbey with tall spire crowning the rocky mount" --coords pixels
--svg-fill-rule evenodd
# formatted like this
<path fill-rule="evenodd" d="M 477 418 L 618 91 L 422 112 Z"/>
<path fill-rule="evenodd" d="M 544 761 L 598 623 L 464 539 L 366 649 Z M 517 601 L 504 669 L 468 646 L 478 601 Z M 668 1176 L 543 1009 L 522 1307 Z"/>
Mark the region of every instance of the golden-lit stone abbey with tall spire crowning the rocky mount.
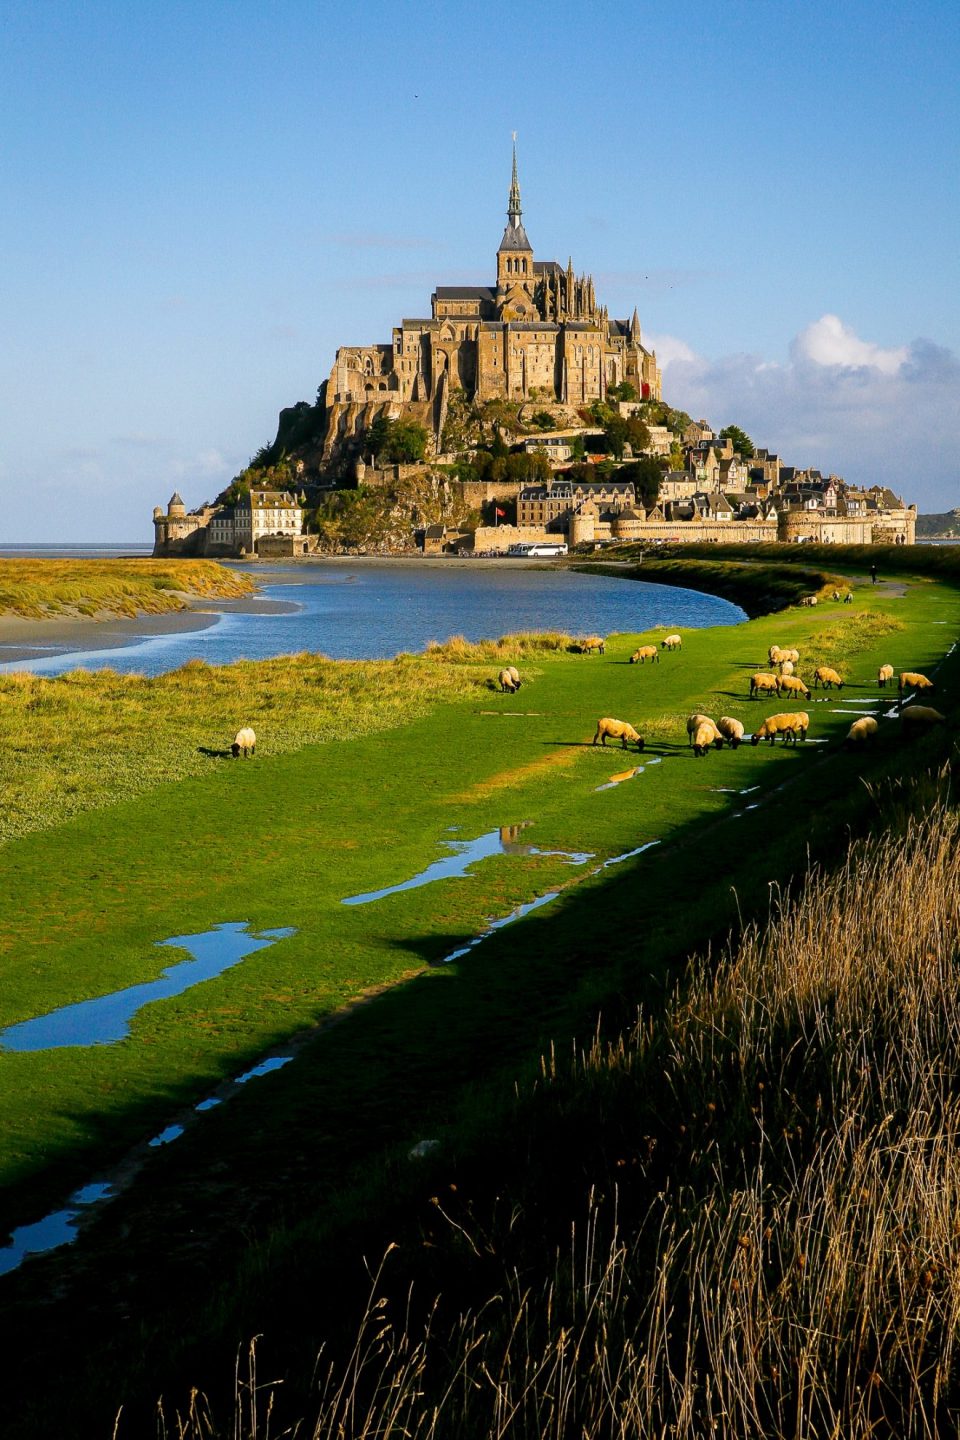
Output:
<path fill-rule="evenodd" d="M 507 229 L 495 285 L 439 285 L 429 320 L 404 320 L 390 344 L 344 346 L 327 383 L 328 433 L 356 431 L 370 416 L 357 406 L 422 405 L 439 433 L 455 389 L 475 400 L 541 399 L 589 405 L 628 382 L 638 399 L 661 397 L 656 356 L 640 323 L 610 320 L 593 279 L 573 262 L 537 261 L 527 239 L 517 180 L 517 150 Z M 347 409 L 354 413 L 344 425 Z M 358 422 L 358 423 L 357 423 Z"/>

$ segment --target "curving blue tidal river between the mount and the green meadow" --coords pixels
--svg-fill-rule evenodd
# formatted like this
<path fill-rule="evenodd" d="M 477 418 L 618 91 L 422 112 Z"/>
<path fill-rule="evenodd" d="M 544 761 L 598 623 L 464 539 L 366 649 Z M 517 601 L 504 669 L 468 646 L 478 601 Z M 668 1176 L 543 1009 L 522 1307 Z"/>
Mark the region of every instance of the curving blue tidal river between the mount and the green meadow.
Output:
<path fill-rule="evenodd" d="M 528 562 L 330 560 L 252 572 L 261 585 L 250 606 L 217 606 L 196 626 L 144 634 L 147 622 L 36 635 L 32 657 L 6 658 L 0 670 L 60 674 L 79 665 L 158 674 L 200 658 L 212 665 L 265 660 L 301 649 L 334 660 L 379 660 L 420 651 L 432 639 L 497 638 L 510 631 L 645 631 L 737 625 L 744 612 L 728 600 L 672 585 L 535 567 Z M 155 622 L 154 622 L 155 626 Z M 91 645 L 91 634 L 98 644 Z"/>

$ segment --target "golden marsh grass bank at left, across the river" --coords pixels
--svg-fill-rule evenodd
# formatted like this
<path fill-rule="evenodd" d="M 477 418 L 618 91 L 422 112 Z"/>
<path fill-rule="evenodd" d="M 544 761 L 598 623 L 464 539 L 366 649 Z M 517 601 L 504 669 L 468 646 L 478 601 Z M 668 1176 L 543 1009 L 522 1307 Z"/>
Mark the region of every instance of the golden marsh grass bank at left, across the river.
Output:
<path fill-rule="evenodd" d="M 250 595 L 246 575 L 214 560 L 0 559 L 0 615 L 163 615 L 187 609 L 183 593 L 201 599 Z"/>

